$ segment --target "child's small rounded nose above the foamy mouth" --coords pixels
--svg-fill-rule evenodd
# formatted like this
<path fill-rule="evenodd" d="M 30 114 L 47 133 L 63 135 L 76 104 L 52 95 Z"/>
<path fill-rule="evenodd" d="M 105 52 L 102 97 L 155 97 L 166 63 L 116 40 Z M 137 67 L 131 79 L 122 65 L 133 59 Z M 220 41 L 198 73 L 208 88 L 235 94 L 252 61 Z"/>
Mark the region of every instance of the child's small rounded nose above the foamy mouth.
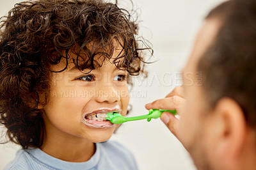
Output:
<path fill-rule="evenodd" d="M 120 95 L 113 86 L 104 86 L 100 88 L 95 95 L 97 102 L 115 103 L 120 101 Z"/>

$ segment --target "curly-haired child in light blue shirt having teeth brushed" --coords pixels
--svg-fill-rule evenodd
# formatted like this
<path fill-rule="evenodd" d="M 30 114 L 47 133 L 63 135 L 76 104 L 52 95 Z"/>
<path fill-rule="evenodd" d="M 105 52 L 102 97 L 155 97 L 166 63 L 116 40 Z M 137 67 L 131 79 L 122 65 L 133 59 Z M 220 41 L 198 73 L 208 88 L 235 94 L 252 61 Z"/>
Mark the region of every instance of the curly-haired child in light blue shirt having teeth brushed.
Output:
<path fill-rule="evenodd" d="M 5 169 L 138 169 L 104 119 L 127 114 L 143 71 L 130 19 L 101 0 L 23 2 L 2 19 L 0 121 L 22 146 Z"/>

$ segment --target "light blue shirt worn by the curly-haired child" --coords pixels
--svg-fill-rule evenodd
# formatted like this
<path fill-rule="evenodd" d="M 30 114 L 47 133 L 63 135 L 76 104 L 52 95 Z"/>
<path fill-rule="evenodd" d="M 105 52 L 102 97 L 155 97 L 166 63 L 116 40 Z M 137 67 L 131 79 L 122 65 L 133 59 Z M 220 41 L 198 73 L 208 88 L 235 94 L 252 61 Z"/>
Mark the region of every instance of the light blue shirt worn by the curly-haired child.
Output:
<path fill-rule="evenodd" d="M 113 141 L 96 143 L 96 151 L 86 162 L 67 162 L 48 155 L 39 148 L 19 150 L 4 169 L 138 169 L 131 151 Z"/>

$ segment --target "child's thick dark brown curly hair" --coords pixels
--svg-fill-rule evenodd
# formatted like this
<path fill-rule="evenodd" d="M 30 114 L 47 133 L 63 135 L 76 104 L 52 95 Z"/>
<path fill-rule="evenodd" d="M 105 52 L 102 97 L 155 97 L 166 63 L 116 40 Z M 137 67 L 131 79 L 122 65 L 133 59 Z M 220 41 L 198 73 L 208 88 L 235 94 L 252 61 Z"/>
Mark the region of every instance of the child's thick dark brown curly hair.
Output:
<path fill-rule="evenodd" d="M 118 42 L 122 52 L 116 66 L 126 68 L 130 75 L 142 72 L 142 51 L 152 49 L 138 47 L 137 27 L 131 20 L 127 10 L 102 0 L 15 4 L 1 19 L 0 35 L 0 122 L 10 141 L 22 148 L 42 146 L 45 127 L 37 108 L 47 104 L 50 66 L 61 58 L 68 65 L 70 50 L 77 54 L 73 63 L 83 71 L 95 68 L 96 55 L 111 58 Z M 92 44 L 94 50 L 89 49 Z"/>

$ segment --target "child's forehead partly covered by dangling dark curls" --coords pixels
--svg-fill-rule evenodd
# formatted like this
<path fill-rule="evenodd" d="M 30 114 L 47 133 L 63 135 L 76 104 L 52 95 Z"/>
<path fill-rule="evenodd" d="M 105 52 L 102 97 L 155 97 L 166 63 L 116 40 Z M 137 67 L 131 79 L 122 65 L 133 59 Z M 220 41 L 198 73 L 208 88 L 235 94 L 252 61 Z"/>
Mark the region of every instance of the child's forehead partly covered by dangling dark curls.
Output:
<path fill-rule="evenodd" d="M 93 70 L 100 68 L 105 62 L 123 68 L 125 51 L 122 44 L 116 39 L 111 41 L 113 43 L 106 47 L 90 42 L 83 49 L 79 45 L 74 45 L 69 50 L 61 50 L 60 63 L 52 65 L 53 70 Z"/>

